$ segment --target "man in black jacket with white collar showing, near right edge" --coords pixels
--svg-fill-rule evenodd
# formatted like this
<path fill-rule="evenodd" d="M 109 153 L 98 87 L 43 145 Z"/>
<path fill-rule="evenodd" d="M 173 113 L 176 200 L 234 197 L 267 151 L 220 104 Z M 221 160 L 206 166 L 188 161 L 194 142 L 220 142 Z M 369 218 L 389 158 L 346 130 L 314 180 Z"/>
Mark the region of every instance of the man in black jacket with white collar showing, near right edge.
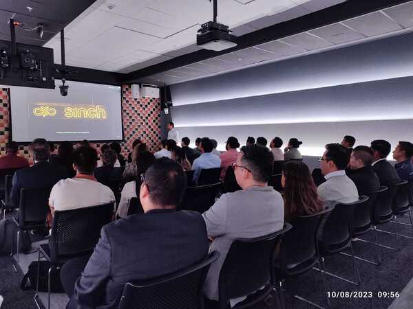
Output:
<path fill-rule="evenodd" d="M 387 161 L 387 157 L 392 149 L 390 143 L 384 139 L 376 139 L 371 142 L 370 148 L 372 148 L 374 153 L 374 162 L 372 163 L 372 167 L 374 172 L 379 177 L 380 185 L 392 185 L 394 183 L 399 183 L 399 175 L 392 164 Z"/>

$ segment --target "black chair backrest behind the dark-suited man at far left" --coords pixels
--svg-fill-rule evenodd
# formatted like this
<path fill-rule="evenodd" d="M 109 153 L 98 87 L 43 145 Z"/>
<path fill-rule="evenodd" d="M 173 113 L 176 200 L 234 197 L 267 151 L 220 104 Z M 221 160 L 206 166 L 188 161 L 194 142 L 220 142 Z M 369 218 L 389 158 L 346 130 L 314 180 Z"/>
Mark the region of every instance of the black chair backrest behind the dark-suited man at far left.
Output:
<path fill-rule="evenodd" d="M 49 211 L 51 187 L 39 189 L 22 188 L 20 191 L 19 225 L 21 229 L 44 225 Z"/>

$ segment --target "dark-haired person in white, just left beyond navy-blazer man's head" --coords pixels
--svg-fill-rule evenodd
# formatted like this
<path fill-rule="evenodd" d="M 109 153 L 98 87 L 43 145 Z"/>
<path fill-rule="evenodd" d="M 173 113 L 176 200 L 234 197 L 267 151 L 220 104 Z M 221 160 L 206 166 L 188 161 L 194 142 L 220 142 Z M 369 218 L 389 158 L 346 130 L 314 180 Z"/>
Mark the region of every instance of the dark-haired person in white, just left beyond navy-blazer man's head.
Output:
<path fill-rule="evenodd" d="M 156 158 L 151 152 L 142 152 L 139 156 L 139 160 L 136 165 L 136 170 L 138 176 L 134 181 L 129 181 L 123 186 L 122 194 L 120 196 L 120 202 L 118 205 L 117 215 L 120 218 L 125 218 L 127 216 L 127 206 L 129 205 L 129 200 L 133 197 L 139 196 L 140 185 L 142 183 L 140 176 L 145 174 L 149 166 L 155 162 Z"/>

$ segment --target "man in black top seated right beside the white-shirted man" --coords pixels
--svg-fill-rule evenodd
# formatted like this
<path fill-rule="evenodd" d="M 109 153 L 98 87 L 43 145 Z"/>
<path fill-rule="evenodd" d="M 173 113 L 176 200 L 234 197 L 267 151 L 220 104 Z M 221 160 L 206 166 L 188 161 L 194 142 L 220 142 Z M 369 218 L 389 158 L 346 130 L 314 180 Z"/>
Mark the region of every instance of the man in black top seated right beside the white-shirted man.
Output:
<path fill-rule="evenodd" d="M 372 168 L 373 159 L 373 150 L 368 146 L 357 146 L 350 155 L 346 174 L 356 185 L 359 195 L 380 189 L 379 177 Z"/>

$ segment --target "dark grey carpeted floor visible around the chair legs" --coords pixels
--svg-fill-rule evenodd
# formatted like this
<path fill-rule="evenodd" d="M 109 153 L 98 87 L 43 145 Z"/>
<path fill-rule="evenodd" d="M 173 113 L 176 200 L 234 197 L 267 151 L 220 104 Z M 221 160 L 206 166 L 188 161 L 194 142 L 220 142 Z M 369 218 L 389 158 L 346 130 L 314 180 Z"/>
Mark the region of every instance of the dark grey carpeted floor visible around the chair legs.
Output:
<path fill-rule="evenodd" d="M 406 220 L 401 218 L 401 220 Z M 389 223 L 382 227 L 388 231 L 399 231 L 413 237 L 413 228 Z M 365 237 L 372 240 L 372 235 Z M 396 246 L 395 236 L 379 233 L 379 242 Z M 354 250 L 363 258 L 374 259 L 374 248 L 370 244 L 354 242 Z M 361 285 L 354 286 L 342 282 L 334 277 L 327 276 L 328 290 L 335 292 L 363 291 L 371 292 L 371 298 L 337 298 L 331 299 L 331 308 L 357 308 L 357 309 L 381 309 L 388 308 L 392 298 L 379 298 L 380 292 L 400 292 L 413 277 L 413 239 L 401 238 L 401 251 L 392 251 L 381 248 L 383 262 L 380 266 L 374 266 L 366 262 L 357 261 L 361 275 Z M 23 273 L 14 273 L 10 257 L 0 258 L 0 295 L 4 297 L 3 306 L 7 309 L 31 309 L 36 308 L 33 301 L 34 291 L 23 292 L 20 290 Z M 344 255 L 326 258 L 326 270 L 353 279 L 352 260 Z M 314 301 L 326 307 L 326 299 L 323 294 L 321 276 L 317 271 L 309 271 L 295 279 L 286 282 L 284 288 L 289 293 L 294 293 Z M 312 308 L 310 305 L 295 299 L 284 293 L 287 308 L 301 309 Z M 52 308 L 53 304 L 52 304 Z M 254 309 L 277 308 L 274 297 L 268 297 L 265 302 L 253 306 Z"/>

